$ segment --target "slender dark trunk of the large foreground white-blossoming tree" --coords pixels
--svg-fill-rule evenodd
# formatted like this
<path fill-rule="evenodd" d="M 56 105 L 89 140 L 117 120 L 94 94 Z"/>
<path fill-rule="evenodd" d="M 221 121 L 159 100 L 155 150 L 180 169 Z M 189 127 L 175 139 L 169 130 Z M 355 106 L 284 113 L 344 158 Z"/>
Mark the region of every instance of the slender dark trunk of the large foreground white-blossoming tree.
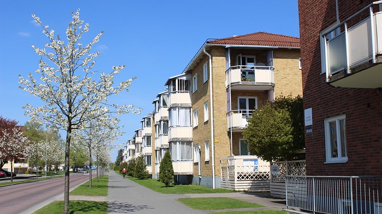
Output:
<path fill-rule="evenodd" d="M 69 154 L 70 154 L 70 139 L 72 134 L 71 124 L 67 129 L 67 141 L 65 145 L 65 191 L 63 194 L 63 212 L 69 214 Z"/>

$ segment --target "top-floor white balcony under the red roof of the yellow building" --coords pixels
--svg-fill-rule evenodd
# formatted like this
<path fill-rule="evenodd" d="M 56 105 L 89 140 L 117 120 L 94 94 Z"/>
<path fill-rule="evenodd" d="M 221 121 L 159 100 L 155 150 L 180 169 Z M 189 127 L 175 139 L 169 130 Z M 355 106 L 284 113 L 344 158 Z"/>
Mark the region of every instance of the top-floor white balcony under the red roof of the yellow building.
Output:
<path fill-rule="evenodd" d="M 232 90 L 270 90 L 274 87 L 271 66 L 231 66 L 226 70 L 225 85 Z"/>

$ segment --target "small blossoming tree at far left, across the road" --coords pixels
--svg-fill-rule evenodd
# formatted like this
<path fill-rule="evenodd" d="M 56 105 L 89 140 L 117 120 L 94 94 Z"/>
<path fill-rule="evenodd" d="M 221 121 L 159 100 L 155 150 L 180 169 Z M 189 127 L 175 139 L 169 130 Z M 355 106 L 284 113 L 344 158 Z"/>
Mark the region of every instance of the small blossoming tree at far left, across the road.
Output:
<path fill-rule="evenodd" d="M 4 160 L 11 161 L 11 182 L 13 182 L 13 160 L 25 155 L 28 138 L 24 136 L 22 130 L 14 127 L 10 130 L 4 129 L 0 134 L 0 156 Z"/>

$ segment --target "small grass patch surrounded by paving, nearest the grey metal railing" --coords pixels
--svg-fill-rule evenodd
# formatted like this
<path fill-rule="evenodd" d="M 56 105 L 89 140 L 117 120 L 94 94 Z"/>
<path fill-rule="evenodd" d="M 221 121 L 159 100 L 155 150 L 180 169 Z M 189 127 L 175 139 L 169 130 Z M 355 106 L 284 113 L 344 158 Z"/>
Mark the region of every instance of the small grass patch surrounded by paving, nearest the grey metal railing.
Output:
<path fill-rule="evenodd" d="M 235 209 L 235 208 L 248 208 L 248 207 L 263 207 L 260 204 L 249 203 L 246 201 L 217 197 L 217 198 L 180 198 L 179 202 L 193 208 L 193 209 Z"/>

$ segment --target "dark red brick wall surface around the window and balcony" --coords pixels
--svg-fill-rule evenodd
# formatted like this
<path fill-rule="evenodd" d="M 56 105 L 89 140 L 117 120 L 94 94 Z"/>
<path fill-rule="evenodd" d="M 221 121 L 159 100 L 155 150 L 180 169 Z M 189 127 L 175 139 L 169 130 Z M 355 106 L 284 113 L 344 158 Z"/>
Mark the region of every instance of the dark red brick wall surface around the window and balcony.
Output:
<path fill-rule="evenodd" d="M 343 21 L 372 1 L 338 0 Z M 312 108 L 306 135 L 308 175 L 381 175 L 382 96 L 375 89 L 335 88 L 321 74 L 320 32 L 336 21 L 335 1 L 299 0 L 304 108 Z M 346 114 L 347 163 L 325 164 L 324 119 Z"/>

